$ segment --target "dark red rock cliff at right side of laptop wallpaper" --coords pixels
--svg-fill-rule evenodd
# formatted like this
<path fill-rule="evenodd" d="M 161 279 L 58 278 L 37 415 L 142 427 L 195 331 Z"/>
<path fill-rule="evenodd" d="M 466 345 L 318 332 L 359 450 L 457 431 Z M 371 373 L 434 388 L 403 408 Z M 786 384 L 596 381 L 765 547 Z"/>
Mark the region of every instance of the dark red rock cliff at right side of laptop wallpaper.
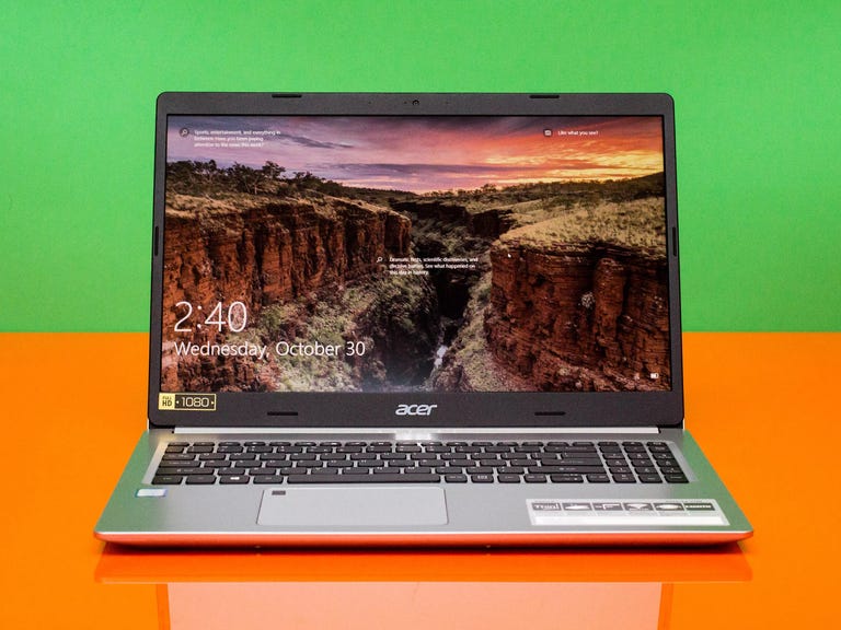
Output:
<path fill-rule="evenodd" d="M 670 384 L 664 258 L 613 244 L 491 250 L 485 335 L 495 358 L 548 390 Z"/>

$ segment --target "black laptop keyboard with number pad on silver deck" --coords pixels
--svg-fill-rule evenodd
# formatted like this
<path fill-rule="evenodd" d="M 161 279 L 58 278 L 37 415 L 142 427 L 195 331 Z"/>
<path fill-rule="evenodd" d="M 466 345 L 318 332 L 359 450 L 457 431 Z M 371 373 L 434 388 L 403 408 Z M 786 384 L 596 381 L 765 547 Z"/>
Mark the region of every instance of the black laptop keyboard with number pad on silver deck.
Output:
<path fill-rule="evenodd" d="M 153 485 L 687 483 L 666 442 L 171 442 Z"/>

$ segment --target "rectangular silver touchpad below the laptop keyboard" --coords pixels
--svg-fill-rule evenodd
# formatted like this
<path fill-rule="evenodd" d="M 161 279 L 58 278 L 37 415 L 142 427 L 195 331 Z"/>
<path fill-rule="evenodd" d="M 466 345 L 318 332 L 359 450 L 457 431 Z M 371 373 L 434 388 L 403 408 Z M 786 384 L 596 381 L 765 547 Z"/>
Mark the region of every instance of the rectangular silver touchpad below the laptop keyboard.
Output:
<path fill-rule="evenodd" d="M 258 525 L 279 527 L 377 527 L 445 525 L 441 488 L 269 488 Z"/>

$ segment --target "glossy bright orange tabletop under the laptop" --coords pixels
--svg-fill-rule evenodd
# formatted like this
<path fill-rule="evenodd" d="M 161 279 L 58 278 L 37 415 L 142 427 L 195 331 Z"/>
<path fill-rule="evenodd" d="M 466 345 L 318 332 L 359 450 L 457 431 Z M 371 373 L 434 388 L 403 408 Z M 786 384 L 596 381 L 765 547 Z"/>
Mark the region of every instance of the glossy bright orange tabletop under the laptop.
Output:
<path fill-rule="evenodd" d="M 841 501 L 834 458 L 815 442 L 841 438 L 841 334 L 684 335 L 687 425 L 756 529 L 739 545 L 699 550 L 105 546 L 92 529 L 145 427 L 147 342 L 139 334 L 0 334 L 4 627 L 837 623 Z"/>

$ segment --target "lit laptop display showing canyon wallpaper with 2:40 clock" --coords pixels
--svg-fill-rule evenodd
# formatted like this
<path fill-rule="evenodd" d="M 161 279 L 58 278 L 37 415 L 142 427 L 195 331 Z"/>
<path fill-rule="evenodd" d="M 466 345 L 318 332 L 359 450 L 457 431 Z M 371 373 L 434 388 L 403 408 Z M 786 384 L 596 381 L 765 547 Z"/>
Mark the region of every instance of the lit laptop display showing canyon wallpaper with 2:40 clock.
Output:
<path fill-rule="evenodd" d="M 161 392 L 671 389 L 659 116 L 170 116 Z"/>

